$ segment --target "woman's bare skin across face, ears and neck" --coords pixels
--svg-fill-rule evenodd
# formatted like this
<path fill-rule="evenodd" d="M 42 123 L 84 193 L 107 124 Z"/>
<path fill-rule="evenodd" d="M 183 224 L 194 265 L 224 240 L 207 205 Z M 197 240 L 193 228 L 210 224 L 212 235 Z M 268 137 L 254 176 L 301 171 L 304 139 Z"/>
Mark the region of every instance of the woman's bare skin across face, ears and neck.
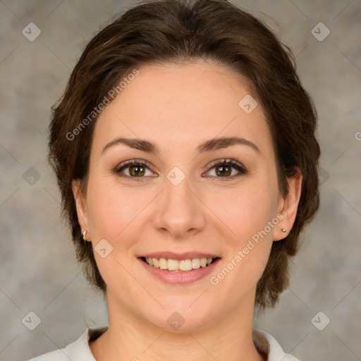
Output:
<path fill-rule="evenodd" d="M 107 285 L 109 329 L 90 349 L 98 361 L 264 360 L 252 342 L 255 290 L 273 241 L 293 226 L 302 176 L 290 179 L 290 192 L 281 196 L 262 107 L 246 114 L 238 106 L 252 92 L 230 69 L 197 61 L 138 70 L 97 120 L 86 192 L 73 181 L 87 240 L 95 247 L 105 238 L 113 247 L 104 258 L 94 252 Z M 247 145 L 197 152 L 206 140 L 234 136 L 259 152 Z M 118 144 L 102 154 L 116 137 L 149 140 L 160 152 Z M 231 168 L 220 176 L 221 166 L 209 167 L 224 158 L 247 173 Z M 152 167 L 142 181 L 134 171 L 131 178 L 129 167 L 114 170 L 132 159 Z M 185 174 L 179 185 L 166 178 L 174 166 Z M 137 259 L 148 252 L 209 252 L 221 257 L 214 276 L 277 214 L 283 214 L 279 224 L 216 286 L 209 276 L 187 285 L 164 283 Z M 185 320 L 178 330 L 167 322 L 173 312 Z"/>

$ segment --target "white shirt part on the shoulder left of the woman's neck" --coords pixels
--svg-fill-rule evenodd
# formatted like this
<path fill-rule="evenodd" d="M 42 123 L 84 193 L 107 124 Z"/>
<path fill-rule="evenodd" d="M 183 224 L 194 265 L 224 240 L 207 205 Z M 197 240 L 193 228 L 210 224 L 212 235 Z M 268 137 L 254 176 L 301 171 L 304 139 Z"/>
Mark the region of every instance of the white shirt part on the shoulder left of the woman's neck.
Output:
<path fill-rule="evenodd" d="M 97 338 L 107 327 L 96 327 L 87 329 L 87 331 L 78 338 L 78 340 L 70 343 L 66 348 L 44 353 L 28 361 L 96 361 L 89 347 L 90 339 Z"/>

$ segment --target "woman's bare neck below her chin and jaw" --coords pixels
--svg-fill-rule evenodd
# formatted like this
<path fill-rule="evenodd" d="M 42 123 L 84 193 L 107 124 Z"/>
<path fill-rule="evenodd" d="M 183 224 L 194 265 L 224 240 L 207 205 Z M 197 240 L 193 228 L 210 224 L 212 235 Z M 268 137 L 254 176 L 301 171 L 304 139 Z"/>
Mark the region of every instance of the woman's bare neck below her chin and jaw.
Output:
<path fill-rule="evenodd" d="M 119 305 L 108 293 L 109 327 L 90 349 L 97 361 L 264 361 L 252 341 L 253 302 L 245 305 L 201 329 L 167 331 Z"/>

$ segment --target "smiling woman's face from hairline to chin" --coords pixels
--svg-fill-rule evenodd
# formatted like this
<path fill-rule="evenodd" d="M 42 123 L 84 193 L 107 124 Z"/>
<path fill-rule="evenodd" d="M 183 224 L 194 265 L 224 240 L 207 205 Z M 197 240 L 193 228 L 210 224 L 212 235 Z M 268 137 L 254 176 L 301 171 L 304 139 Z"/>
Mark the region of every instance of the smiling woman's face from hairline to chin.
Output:
<path fill-rule="evenodd" d="M 252 312 L 272 242 L 297 207 L 279 193 L 262 108 L 222 66 L 138 70 L 97 120 L 77 198 L 109 312 L 182 331 Z M 216 262 L 202 267 L 204 258 Z"/>

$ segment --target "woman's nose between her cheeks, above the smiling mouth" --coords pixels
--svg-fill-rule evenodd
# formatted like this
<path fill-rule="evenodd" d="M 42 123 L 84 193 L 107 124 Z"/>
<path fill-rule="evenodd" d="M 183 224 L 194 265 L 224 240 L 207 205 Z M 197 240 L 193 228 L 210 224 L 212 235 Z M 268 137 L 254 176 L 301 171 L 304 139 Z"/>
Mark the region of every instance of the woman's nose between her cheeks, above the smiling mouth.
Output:
<path fill-rule="evenodd" d="M 191 189 L 187 176 L 178 185 L 166 179 L 158 198 L 154 216 L 157 231 L 165 235 L 169 233 L 167 236 L 173 240 L 184 240 L 204 229 L 207 208 L 201 197 Z"/>

